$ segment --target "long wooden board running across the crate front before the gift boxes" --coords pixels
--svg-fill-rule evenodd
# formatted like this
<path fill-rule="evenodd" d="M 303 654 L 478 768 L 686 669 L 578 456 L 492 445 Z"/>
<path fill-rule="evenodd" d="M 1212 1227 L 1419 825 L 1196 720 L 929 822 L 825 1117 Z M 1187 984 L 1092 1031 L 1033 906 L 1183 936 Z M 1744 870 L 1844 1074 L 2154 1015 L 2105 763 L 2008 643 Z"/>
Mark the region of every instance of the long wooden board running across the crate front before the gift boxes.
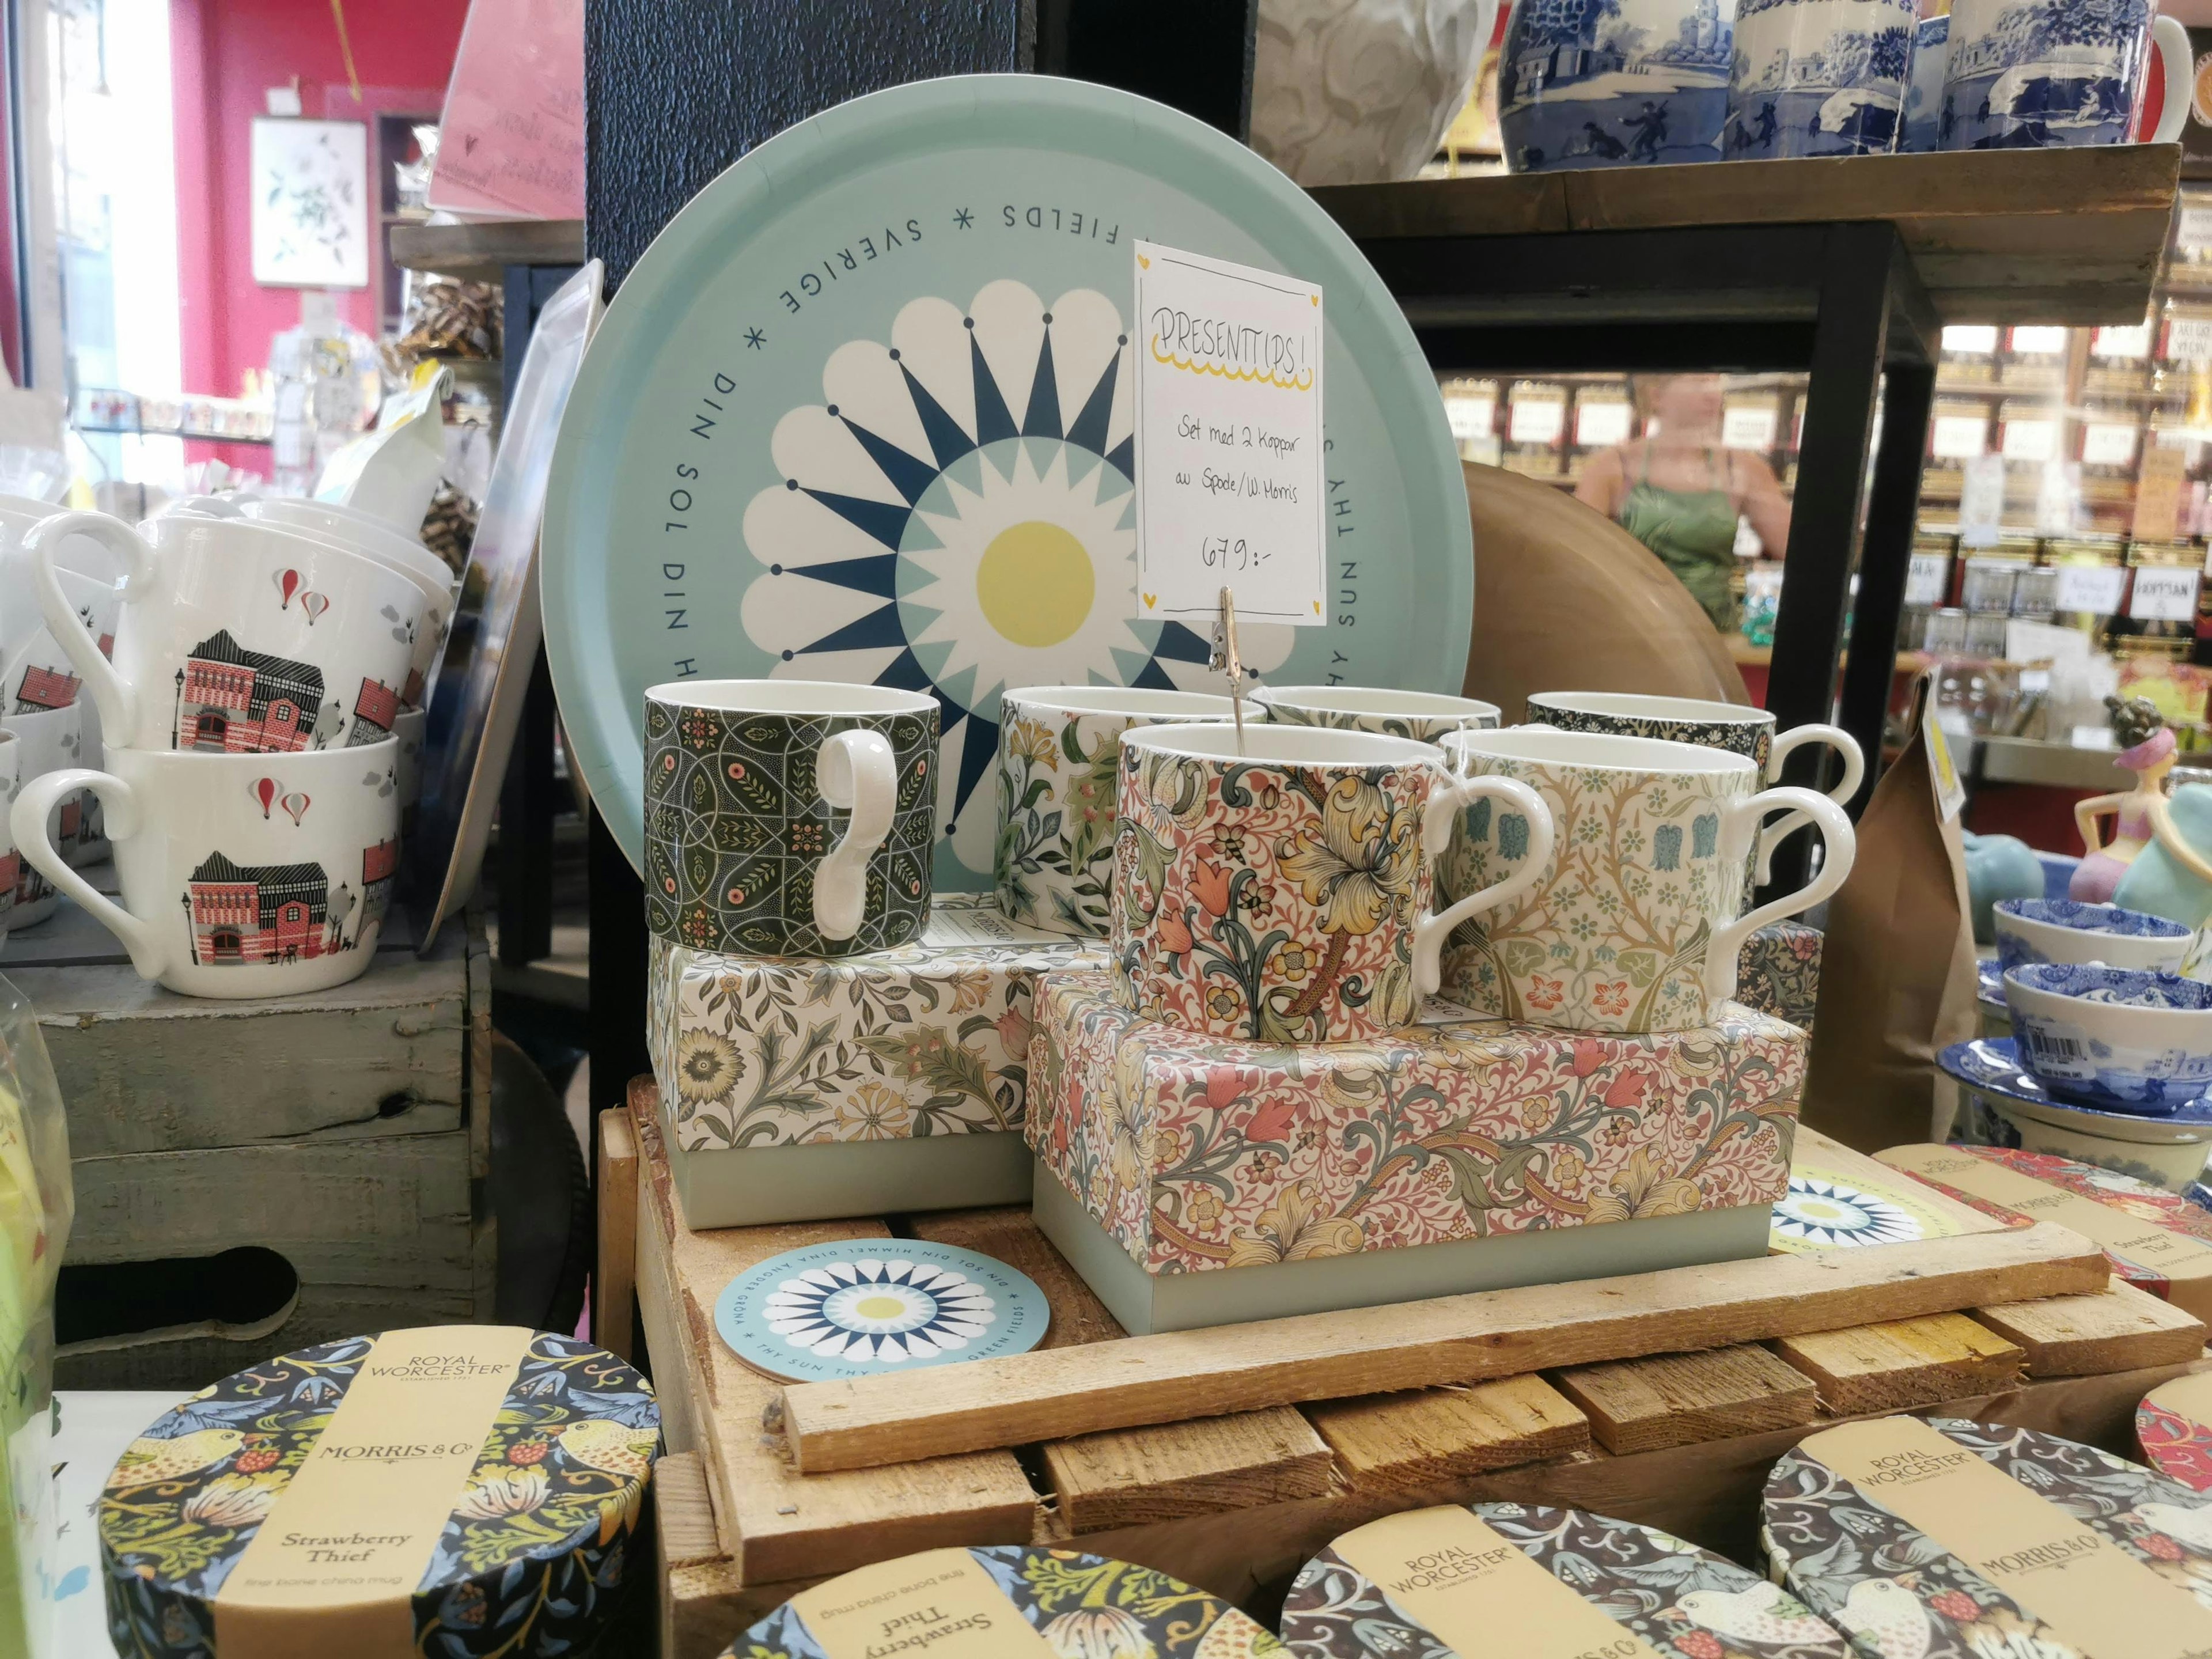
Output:
<path fill-rule="evenodd" d="M 1232 1336 L 1219 1329 L 1126 1336 L 914 1376 L 805 1383 L 783 1391 L 783 1429 L 807 1473 L 869 1469 L 1068 1433 L 2086 1294 L 2106 1279 L 2101 1250 L 2066 1228 L 2037 1223 L 1256 1321 Z"/>

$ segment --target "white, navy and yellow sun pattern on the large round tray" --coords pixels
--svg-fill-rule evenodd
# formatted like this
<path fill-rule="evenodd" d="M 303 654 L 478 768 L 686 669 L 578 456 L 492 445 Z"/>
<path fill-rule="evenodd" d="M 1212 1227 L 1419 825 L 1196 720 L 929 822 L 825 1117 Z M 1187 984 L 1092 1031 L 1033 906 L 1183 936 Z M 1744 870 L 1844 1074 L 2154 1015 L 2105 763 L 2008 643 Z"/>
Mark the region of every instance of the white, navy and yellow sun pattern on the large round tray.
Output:
<path fill-rule="evenodd" d="M 774 672 L 933 690 L 945 703 L 938 823 L 991 869 L 1006 686 L 1206 690 L 1208 646 L 1135 622 L 1137 526 L 1128 325 L 1106 294 L 1051 305 L 1018 281 L 962 310 L 909 301 L 891 341 L 847 341 L 823 403 L 770 438 L 781 484 L 745 509 L 761 573 L 745 635 Z M 1243 630 L 1254 672 L 1290 628 Z"/>

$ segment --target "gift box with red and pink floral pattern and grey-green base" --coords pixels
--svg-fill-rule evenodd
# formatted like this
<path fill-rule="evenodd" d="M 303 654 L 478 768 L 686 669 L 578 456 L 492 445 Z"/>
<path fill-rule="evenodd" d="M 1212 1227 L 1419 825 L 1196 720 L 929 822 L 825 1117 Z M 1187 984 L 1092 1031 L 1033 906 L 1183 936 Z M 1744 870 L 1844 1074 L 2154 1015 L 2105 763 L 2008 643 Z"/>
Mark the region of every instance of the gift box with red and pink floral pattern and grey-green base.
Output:
<path fill-rule="evenodd" d="M 1765 1254 L 1805 1033 L 1453 1020 L 1285 1048 L 1037 991 L 1037 1225 L 1130 1332 Z"/>

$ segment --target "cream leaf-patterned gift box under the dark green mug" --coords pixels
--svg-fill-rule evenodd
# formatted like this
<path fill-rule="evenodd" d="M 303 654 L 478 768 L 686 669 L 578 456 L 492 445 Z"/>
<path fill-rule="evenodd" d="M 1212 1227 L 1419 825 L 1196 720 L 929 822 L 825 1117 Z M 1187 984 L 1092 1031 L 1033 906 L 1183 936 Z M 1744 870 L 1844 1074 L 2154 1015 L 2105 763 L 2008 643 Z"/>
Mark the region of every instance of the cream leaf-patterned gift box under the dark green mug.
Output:
<path fill-rule="evenodd" d="M 1026 1203 L 1029 1020 L 1106 942 L 938 894 L 911 945 L 719 956 L 653 940 L 668 1164 L 695 1228 Z"/>

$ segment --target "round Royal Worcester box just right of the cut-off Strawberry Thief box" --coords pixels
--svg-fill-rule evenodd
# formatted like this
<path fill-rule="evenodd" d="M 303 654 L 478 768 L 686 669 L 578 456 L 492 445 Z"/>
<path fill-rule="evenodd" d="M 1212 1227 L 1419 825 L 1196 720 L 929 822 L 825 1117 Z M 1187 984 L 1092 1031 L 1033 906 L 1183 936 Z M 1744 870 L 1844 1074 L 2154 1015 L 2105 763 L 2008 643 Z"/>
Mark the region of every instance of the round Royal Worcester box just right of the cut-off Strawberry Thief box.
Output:
<path fill-rule="evenodd" d="M 1345 1533 L 1283 1604 L 1298 1659 L 1849 1659 L 1794 1595 L 1579 1509 L 1420 1509 Z"/>

